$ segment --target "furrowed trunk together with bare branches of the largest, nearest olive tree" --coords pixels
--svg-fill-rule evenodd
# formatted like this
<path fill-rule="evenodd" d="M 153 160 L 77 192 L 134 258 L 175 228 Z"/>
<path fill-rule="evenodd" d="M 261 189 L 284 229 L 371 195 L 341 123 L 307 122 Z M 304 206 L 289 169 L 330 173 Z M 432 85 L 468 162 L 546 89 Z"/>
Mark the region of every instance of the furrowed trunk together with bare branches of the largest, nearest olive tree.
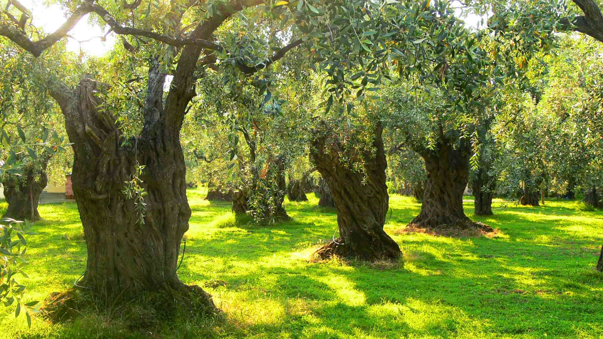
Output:
<path fill-rule="evenodd" d="M 62 39 L 86 13 L 95 12 L 117 34 L 145 36 L 178 46 L 176 60 L 166 58 L 174 76 L 163 103 L 165 65 L 155 58 L 148 74 L 148 93 L 142 107 L 143 128 L 136 138 L 126 139 L 116 125 L 112 107 L 98 109 L 98 82 L 84 79 L 75 89 L 49 76 L 48 90 L 65 116 L 66 130 L 73 143 L 73 188 L 87 242 L 87 265 L 83 284 L 88 291 L 109 296 L 127 297 L 145 291 L 167 289 L 191 290 L 176 274 L 178 248 L 188 229 L 191 209 L 186 200 L 185 163 L 180 147 L 180 129 L 192 98 L 197 95 L 195 84 L 200 64 L 215 63 L 213 51 L 223 51 L 213 43 L 213 33 L 226 19 L 259 1 L 234 1 L 218 5 L 216 14 L 200 21 L 186 39 L 174 39 L 154 31 L 137 30 L 119 25 L 103 7 L 93 2 L 78 6 L 72 16 L 55 33 L 32 41 L 17 30 L 0 25 L 0 34 L 22 48 L 39 56 L 43 50 Z M 172 13 L 173 14 L 173 13 Z M 179 27 L 181 14 L 169 17 L 170 25 Z M 279 60 L 303 41 L 289 43 L 274 52 L 265 63 L 256 66 L 236 63 L 242 73 L 253 74 Z M 211 49 L 212 53 L 204 53 Z M 134 52 L 134 51 L 132 51 Z M 200 56 L 204 53 L 205 59 Z M 104 86 L 104 85 L 103 85 Z M 145 166 L 137 180 L 136 168 Z M 140 193 L 144 204 L 122 193 L 130 182 Z M 136 201 L 138 203 L 136 204 Z M 140 212 L 146 206 L 144 224 Z M 200 288 L 192 287 L 196 294 Z M 215 306 L 205 294 L 205 304 Z"/>

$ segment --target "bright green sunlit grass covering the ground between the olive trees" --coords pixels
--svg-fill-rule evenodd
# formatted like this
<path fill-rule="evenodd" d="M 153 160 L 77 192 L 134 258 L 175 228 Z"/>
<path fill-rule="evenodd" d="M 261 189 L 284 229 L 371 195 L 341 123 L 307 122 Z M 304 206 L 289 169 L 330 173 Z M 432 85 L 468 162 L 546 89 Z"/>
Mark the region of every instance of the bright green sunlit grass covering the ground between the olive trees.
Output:
<path fill-rule="evenodd" d="M 206 286 L 223 320 L 167 323 L 134 333 L 109 318 L 86 315 L 63 325 L 0 306 L 4 338 L 602 338 L 603 274 L 593 270 L 603 243 L 603 212 L 549 200 L 537 208 L 494 202 L 493 238 L 446 238 L 400 230 L 420 204 L 390 198 L 386 232 L 400 244 L 399 265 L 308 258 L 336 229 L 334 211 L 286 203 L 288 223 L 237 222 L 230 204 L 189 191 L 191 227 L 178 271 Z M 506 208 L 500 208 L 507 204 Z M 74 203 L 40 206 L 45 221 L 28 241 L 28 300 L 73 285 L 86 265 Z M 388 215 L 389 218 L 389 215 Z"/>

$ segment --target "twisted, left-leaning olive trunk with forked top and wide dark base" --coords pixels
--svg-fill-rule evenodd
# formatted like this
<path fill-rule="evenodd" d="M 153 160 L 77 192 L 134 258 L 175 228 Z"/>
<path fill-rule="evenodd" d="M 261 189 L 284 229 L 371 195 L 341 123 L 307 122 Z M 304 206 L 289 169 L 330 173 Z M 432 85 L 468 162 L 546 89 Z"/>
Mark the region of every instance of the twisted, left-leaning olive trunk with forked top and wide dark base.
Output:
<path fill-rule="evenodd" d="M 377 125 L 374 153 L 365 151 L 362 155 L 362 173 L 339 161 L 339 154 L 333 150 L 346 150 L 336 136 L 320 136 L 312 143 L 311 159 L 329 185 L 339 227 L 339 238 L 315 253 L 320 259 L 341 256 L 377 261 L 396 260 L 400 256 L 400 247 L 383 229 L 389 196 L 382 132 L 383 128 Z M 328 147 L 332 147 L 330 152 Z"/>

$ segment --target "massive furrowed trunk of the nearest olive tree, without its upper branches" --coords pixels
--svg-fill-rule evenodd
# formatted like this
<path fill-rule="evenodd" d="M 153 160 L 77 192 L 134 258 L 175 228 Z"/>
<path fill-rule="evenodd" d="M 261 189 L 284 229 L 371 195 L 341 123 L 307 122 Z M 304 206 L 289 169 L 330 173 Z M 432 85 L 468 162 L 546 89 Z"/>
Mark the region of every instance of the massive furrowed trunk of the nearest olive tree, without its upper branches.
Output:
<path fill-rule="evenodd" d="M 127 142 L 115 117 L 96 109 L 95 81 L 82 80 L 72 93 L 63 94 L 66 89 L 53 93 L 73 143 L 73 190 L 86 236 L 86 271 L 78 285 L 109 299 L 194 290 L 207 310 L 215 311 L 209 294 L 187 287 L 176 273 L 191 209 L 180 147 L 183 115 L 179 119 L 162 109 L 165 74 L 159 69 L 157 65 L 150 69 L 142 135 Z M 134 177 L 137 164 L 145 166 L 142 181 Z M 134 199 L 140 189 L 131 188 L 131 196 L 122 192 L 125 182 L 144 189 L 145 205 Z"/>

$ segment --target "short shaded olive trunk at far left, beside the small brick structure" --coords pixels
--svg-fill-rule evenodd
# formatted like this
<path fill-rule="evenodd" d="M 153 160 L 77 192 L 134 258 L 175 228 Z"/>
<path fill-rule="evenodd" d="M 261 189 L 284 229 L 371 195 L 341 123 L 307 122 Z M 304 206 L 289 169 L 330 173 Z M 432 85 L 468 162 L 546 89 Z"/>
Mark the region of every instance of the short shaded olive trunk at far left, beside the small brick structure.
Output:
<path fill-rule="evenodd" d="M 8 173 L 4 175 L 2 185 L 8 208 L 3 218 L 40 220 L 37 207 L 40 202 L 40 194 L 48 184 L 46 165 L 48 165 L 48 160 L 43 160 L 39 168 L 28 166 L 21 176 Z"/>

